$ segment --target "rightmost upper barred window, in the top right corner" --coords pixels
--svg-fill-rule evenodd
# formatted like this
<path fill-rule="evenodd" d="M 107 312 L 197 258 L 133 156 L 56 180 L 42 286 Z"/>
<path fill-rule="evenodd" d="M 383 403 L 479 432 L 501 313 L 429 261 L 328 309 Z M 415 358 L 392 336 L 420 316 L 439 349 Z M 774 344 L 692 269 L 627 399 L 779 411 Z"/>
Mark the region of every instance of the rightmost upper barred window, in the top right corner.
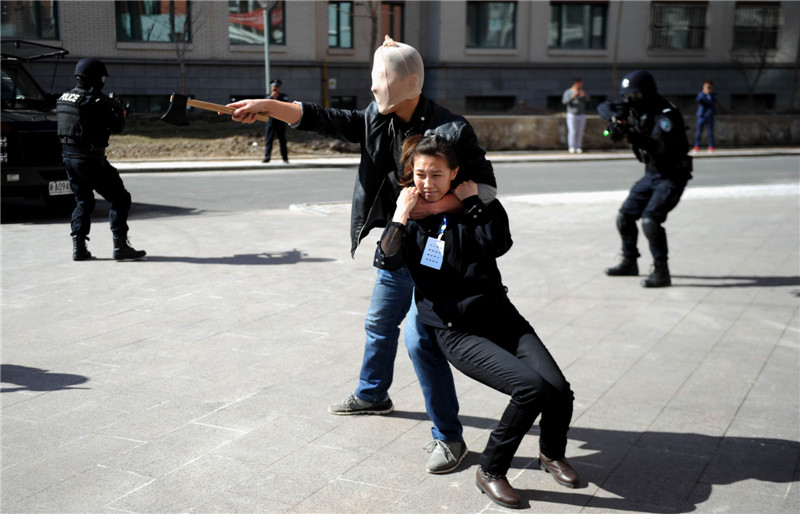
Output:
<path fill-rule="evenodd" d="M 734 50 L 775 50 L 778 47 L 780 4 L 738 2 L 733 28 Z"/>

